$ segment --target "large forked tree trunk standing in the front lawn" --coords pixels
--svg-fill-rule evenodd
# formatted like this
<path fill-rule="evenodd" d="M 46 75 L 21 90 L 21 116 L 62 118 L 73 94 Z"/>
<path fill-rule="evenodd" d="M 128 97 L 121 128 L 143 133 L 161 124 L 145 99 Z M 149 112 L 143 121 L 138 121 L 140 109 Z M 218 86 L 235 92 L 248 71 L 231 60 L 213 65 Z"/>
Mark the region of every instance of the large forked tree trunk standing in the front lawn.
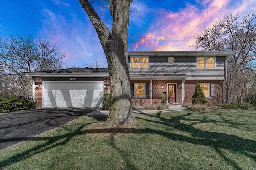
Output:
<path fill-rule="evenodd" d="M 127 53 L 129 7 L 132 0 L 111 0 L 112 34 L 88 0 L 80 0 L 97 31 L 110 75 L 110 113 L 107 124 L 133 123 Z"/>

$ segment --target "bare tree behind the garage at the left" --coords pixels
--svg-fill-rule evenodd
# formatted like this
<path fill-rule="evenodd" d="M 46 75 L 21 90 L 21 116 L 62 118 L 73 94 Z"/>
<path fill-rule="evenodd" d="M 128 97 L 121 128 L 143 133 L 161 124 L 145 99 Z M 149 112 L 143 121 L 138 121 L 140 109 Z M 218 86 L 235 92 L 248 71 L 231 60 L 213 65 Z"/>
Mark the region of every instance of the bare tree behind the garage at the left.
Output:
<path fill-rule="evenodd" d="M 5 97 L 28 96 L 31 86 L 22 72 L 53 70 L 63 68 L 64 53 L 45 40 L 35 40 L 32 35 L 0 37 L 1 93 Z"/>

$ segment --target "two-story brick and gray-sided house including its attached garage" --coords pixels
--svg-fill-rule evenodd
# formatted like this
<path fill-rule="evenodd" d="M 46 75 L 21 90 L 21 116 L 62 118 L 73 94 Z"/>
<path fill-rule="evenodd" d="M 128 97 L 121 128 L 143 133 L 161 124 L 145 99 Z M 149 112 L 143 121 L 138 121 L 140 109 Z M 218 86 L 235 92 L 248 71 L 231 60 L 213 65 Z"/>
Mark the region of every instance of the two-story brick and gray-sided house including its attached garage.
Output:
<path fill-rule="evenodd" d="M 133 103 L 192 105 L 196 82 L 209 104 L 224 102 L 226 57 L 233 51 L 128 51 Z M 38 107 L 102 107 L 108 68 L 70 68 L 24 73 L 33 79 Z M 139 102 L 138 102 L 139 101 Z"/>

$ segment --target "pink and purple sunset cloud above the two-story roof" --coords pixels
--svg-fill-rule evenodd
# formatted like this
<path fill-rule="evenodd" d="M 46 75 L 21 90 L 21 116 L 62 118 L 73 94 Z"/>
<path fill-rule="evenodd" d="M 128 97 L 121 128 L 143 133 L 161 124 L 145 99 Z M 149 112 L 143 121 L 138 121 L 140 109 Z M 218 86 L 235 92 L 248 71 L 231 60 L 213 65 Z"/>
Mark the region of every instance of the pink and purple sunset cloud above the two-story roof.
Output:
<path fill-rule="evenodd" d="M 176 13 L 165 12 L 149 32 L 135 43 L 134 50 L 142 47 L 155 51 L 190 50 L 188 46 L 194 43 L 194 36 L 202 33 L 205 27 L 211 27 L 217 18 L 221 19 L 224 14 L 234 12 L 234 9 L 246 10 L 252 3 L 255 4 L 253 0 L 240 3 L 243 5 L 234 3 L 232 6 L 230 0 L 213 0 L 208 6 L 202 6 L 201 10 L 188 4 Z"/>

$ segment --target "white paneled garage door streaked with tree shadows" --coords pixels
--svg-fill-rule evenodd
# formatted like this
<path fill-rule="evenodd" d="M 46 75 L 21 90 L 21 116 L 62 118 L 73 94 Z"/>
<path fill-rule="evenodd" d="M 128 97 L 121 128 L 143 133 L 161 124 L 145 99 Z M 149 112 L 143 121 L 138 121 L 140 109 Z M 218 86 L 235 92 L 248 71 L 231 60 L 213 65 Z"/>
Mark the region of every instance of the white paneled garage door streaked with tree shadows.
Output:
<path fill-rule="evenodd" d="M 102 107 L 103 82 L 44 82 L 43 107 Z"/>

